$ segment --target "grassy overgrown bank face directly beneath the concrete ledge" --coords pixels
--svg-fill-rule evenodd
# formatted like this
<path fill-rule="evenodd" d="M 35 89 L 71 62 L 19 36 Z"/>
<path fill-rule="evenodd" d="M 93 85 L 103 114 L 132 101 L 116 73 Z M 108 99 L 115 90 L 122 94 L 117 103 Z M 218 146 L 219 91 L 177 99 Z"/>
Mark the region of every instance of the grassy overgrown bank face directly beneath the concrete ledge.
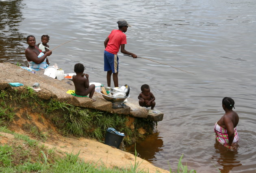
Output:
<path fill-rule="evenodd" d="M 39 116 L 39 120 L 42 116 L 50 120 L 63 135 L 91 137 L 100 142 L 104 141 L 108 127 L 123 132 L 126 135 L 124 144 L 130 145 L 138 139 L 143 139 L 144 136 L 139 133 L 139 128 L 143 127 L 146 132 L 144 135 L 147 135 L 156 126 L 156 122 L 134 118 L 132 122 L 134 128 L 131 129 L 127 125 L 129 116 L 75 107 L 55 99 L 42 100 L 29 87 L 24 87 L 22 90 L 1 90 L 0 104 L 2 106 L 0 109 L 2 112 L 0 114 L 0 124 L 3 124 L 3 122 L 11 123 L 19 109 L 26 109 L 25 117 L 27 119 L 30 118 L 30 113 L 34 113 Z M 25 123 L 22 126 L 26 131 L 39 136 L 43 140 L 47 138 L 47 135 L 41 132 L 33 123 Z"/>

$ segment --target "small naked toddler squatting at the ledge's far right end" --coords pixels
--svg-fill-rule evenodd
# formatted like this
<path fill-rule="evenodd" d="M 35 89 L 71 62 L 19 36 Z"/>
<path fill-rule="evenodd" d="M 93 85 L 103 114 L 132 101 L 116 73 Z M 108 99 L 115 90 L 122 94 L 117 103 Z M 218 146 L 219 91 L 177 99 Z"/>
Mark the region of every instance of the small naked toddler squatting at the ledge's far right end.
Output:
<path fill-rule="evenodd" d="M 150 107 L 154 109 L 156 102 L 154 101 L 156 98 L 150 92 L 150 87 L 147 84 L 141 85 L 141 93 L 138 96 L 139 98 L 139 105 L 142 107 Z"/>

